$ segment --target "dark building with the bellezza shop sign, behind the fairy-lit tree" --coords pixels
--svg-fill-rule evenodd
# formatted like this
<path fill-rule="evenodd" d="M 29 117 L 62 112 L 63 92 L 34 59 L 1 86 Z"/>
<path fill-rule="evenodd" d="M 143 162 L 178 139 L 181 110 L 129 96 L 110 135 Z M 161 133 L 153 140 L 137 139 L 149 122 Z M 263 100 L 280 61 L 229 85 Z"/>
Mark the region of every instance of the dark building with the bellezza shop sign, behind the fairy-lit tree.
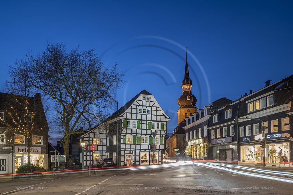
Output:
<path fill-rule="evenodd" d="M 1 124 L 8 122 L 7 108 L 4 105 L 9 105 L 11 98 L 19 99 L 23 96 L 0 93 L 0 120 Z M 28 97 L 29 104 L 35 104 L 37 109 L 34 110 L 34 117 L 25 117 L 23 112 L 18 113 L 19 121 L 32 122 L 38 120 L 38 126 L 43 128 L 36 129 L 30 140 L 30 163 L 37 164 L 44 169 L 49 169 L 48 166 L 48 124 L 45 117 L 45 112 L 41 102 L 41 94 L 36 94 L 35 97 Z M 15 110 L 16 107 L 14 107 Z M 15 111 L 13 110 L 13 111 Z M 13 112 L 8 111 L 8 112 Z M 26 122 L 26 121 L 25 121 Z M 0 127 L 0 174 L 15 173 L 19 166 L 28 164 L 28 139 L 23 132 L 6 131 L 6 125 Z"/>

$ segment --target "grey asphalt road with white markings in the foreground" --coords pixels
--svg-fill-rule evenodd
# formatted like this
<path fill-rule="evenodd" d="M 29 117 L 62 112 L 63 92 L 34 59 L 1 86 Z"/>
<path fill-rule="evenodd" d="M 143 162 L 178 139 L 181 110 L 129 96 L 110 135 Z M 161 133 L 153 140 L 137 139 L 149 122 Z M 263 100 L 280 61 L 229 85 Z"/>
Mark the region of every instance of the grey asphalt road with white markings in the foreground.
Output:
<path fill-rule="evenodd" d="M 111 174 L 111 171 L 106 171 Z M 113 175 L 0 183 L 0 194 L 293 194 L 293 184 L 239 175 L 217 168 L 185 165 Z"/>

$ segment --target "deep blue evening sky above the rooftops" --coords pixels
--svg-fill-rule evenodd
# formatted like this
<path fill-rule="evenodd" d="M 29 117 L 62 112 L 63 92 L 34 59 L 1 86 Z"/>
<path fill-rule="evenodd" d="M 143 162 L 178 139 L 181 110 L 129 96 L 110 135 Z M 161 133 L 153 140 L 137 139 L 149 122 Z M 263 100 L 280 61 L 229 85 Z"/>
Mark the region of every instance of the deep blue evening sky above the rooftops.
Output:
<path fill-rule="evenodd" d="M 171 133 L 185 46 L 197 107 L 235 100 L 292 74 L 292 8 L 292 1 L 0 1 L 0 84 L 7 64 L 44 50 L 46 39 L 96 48 L 105 65 L 117 62 L 125 73 L 120 106 L 146 89 L 172 118 Z"/>

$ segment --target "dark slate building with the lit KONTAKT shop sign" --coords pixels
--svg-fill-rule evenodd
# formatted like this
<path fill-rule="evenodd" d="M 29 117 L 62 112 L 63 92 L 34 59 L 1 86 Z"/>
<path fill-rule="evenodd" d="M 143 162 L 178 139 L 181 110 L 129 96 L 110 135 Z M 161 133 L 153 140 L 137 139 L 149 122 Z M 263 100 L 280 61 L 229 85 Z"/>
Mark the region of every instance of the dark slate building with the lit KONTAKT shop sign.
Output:
<path fill-rule="evenodd" d="M 239 164 L 284 166 L 292 162 L 293 76 L 279 80 L 242 98 L 239 115 Z M 260 119 L 260 120 L 255 120 Z M 261 126 L 265 126 L 265 149 Z M 263 158 L 265 154 L 265 159 Z M 287 162 L 284 162 L 287 161 Z"/>

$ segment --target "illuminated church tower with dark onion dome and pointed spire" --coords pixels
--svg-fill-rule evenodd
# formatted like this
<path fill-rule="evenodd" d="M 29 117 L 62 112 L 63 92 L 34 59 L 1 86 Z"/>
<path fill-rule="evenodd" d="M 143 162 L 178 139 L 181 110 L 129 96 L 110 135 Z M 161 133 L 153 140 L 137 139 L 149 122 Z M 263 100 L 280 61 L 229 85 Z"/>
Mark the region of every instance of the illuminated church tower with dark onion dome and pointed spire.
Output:
<path fill-rule="evenodd" d="M 187 63 L 187 53 L 186 53 L 186 61 L 185 61 L 185 73 L 184 79 L 182 81 L 182 95 L 178 99 L 179 109 L 178 113 L 178 124 L 182 122 L 186 117 L 190 114 L 197 112 L 196 98 L 193 94 L 191 94 L 192 80 L 189 78 L 188 72 L 188 63 Z"/>

